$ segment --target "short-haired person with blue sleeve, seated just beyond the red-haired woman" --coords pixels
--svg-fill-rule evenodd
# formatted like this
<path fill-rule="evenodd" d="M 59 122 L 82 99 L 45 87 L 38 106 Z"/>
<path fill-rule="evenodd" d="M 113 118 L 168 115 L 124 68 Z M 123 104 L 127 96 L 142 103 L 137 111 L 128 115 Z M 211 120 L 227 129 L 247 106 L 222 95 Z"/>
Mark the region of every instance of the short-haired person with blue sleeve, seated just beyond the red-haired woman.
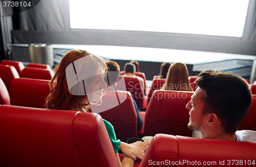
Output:
<path fill-rule="evenodd" d="M 105 89 L 106 90 L 116 90 L 115 89 L 115 84 L 116 84 L 116 82 L 118 81 L 118 78 L 119 78 L 120 66 L 118 65 L 118 63 L 116 63 L 114 61 L 106 61 L 106 66 L 109 67 L 109 71 L 112 71 L 112 72 L 114 71 L 116 73 L 111 73 L 110 74 L 109 71 L 108 71 L 107 75 L 110 78 L 109 79 L 110 80 L 110 83 L 109 83 L 110 86 L 108 88 L 105 88 Z M 133 99 L 133 103 L 134 103 L 136 113 L 137 113 L 137 130 L 140 130 L 142 128 L 143 121 L 140 118 L 138 107 L 137 107 L 137 104 L 136 104 L 134 99 Z"/>

